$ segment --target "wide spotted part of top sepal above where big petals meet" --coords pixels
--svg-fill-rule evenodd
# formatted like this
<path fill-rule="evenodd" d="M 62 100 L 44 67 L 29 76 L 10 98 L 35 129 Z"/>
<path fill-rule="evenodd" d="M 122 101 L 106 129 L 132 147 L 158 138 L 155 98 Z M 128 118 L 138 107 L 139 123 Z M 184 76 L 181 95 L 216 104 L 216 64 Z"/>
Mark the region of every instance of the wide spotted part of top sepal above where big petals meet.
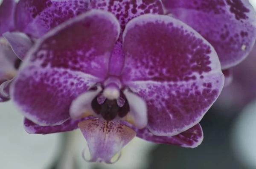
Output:
<path fill-rule="evenodd" d="M 91 0 L 89 8 L 110 11 L 122 30 L 129 20 L 142 14 L 163 14 L 161 0 Z"/>

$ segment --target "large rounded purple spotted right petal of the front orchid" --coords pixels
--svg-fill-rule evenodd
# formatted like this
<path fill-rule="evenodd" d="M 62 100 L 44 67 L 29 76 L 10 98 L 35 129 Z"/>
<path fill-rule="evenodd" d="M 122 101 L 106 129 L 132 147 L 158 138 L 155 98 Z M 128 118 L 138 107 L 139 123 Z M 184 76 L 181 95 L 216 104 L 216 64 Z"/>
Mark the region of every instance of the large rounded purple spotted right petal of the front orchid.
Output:
<path fill-rule="evenodd" d="M 214 48 L 175 18 L 147 14 L 131 20 L 123 48 L 122 82 L 147 102 L 154 135 L 177 135 L 193 127 L 224 85 Z"/>

